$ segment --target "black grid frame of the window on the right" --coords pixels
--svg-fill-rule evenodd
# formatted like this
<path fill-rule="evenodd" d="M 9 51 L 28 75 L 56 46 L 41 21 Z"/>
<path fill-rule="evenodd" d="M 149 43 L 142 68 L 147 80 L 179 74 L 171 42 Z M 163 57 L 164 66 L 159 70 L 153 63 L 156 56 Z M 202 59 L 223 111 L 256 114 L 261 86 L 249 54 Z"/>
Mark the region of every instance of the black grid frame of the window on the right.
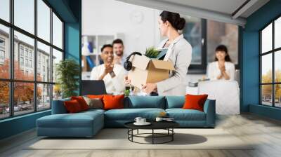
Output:
<path fill-rule="evenodd" d="M 270 20 L 270 22 L 268 22 L 265 26 L 263 26 L 261 29 L 259 29 L 259 105 L 261 106 L 266 106 L 266 107 L 274 107 L 274 108 L 278 108 L 280 109 L 281 107 L 276 107 L 275 106 L 275 85 L 280 85 L 281 82 L 275 82 L 275 53 L 277 53 L 278 51 L 281 50 L 280 48 L 275 48 L 275 20 L 277 20 L 278 18 L 281 18 L 281 14 L 277 15 L 275 18 L 273 18 L 273 20 Z M 272 25 L 271 29 L 272 29 L 272 45 L 271 45 L 271 50 L 268 50 L 267 52 L 262 52 L 262 31 L 263 29 L 265 29 L 266 27 L 268 27 L 269 25 Z M 272 74 L 271 74 L 271 83 L 262 83 L 262 57 L 263 55 L 268 55 L 271 54 L 271 61 L 272 61 L 272 65 L 271 65 L 271 69 L 272 69 Z M 263 104 L 262 101 L 262 88 L 261 86 L 263 85 L 271 85 L 271 106 L 270 105 L 266 105 Z"/>

